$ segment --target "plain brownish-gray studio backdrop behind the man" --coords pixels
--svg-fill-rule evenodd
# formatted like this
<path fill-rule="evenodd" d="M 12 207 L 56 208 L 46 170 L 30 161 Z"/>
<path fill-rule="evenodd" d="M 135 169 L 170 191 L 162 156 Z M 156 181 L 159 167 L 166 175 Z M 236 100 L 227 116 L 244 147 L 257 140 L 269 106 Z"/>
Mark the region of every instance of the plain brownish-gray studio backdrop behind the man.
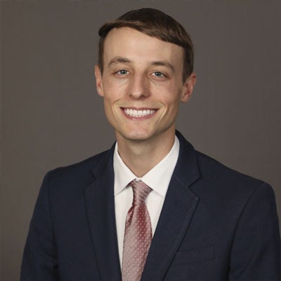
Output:
<path fill-rule="evenodd" d="M 281 197 L 281 1 L 1 2 L 1 280 L 18 280 L 42 177 L 112 145 L 96 94 L 97 30 L 132 8 L 174 16 L 197 86 L 178 129 L 197 150 Z"/>

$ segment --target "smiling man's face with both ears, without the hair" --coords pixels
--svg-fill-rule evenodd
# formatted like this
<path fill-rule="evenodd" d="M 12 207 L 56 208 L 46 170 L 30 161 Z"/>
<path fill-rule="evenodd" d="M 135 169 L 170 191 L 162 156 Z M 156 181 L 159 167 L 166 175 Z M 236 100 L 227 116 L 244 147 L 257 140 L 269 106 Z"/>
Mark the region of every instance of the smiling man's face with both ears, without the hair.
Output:
<path fill-rule="evenodd" d="M 183 82 L 183 48 L 128 27 L 113 29 L 104 44 L 98 94 L 117 141 L 174 135 L 180 101 L 187 102 L 195 74 Z"/>

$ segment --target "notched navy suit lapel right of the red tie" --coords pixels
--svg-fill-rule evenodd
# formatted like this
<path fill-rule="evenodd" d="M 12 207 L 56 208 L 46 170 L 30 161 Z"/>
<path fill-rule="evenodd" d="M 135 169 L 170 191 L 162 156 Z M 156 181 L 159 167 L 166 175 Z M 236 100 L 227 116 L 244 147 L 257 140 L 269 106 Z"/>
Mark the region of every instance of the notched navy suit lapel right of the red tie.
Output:
<path fill-rule="evenodd" d="M 200 177 L 195 150 L 180 133 L 177 132 L 177 136 L 180 140 L 178 163 L 166 193 L 142 280 L 164 279 L 199 201 L 189 188 Z"/>

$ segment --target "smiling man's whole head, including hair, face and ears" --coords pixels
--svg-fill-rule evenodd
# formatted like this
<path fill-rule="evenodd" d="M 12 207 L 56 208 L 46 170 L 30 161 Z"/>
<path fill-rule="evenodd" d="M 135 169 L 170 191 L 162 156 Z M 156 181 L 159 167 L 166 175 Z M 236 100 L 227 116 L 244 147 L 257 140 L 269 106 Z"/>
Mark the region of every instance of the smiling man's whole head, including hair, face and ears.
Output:
<path fill-rule="evenodd" d="M 196 81 L 188 34 L 150 8 L 106 23 L 99 34 L 96 86 L 117 141 L 172 140 L 179 103 Z"/>

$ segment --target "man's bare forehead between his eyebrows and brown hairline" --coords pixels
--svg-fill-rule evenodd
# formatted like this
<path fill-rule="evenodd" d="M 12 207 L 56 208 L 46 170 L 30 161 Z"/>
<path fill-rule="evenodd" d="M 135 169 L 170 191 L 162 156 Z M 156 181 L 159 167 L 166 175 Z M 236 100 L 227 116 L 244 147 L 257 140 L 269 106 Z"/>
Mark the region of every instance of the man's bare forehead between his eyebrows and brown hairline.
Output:
<path fill-rule="evenodd" d="M 105 66 L 116 56 L 139 63 L 167 60 L 173 65 L 183 65 L 181 46 L 150 37 L 129 27 L 114 28 L 107 34 L 103 52 Z"/>

